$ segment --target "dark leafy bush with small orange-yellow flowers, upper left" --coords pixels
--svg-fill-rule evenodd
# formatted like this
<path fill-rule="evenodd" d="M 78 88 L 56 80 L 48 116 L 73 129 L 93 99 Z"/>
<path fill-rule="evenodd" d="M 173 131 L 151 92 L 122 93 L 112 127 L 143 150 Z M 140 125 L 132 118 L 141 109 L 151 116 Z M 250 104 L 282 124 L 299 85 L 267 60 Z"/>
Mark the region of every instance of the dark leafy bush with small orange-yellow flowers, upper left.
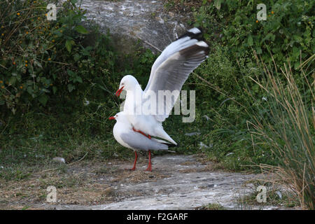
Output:
<path fill-rule="evenodd" d="M 82 25 L 76 0 L 57 3 L 57 20 L 46 18 L 52 1 L 1 1 L 0 109 L 45 106 L 57 95 L 71 96 L 83 85 L 106 80 L 114 55 L 109 38 Z M 95 33 L 96 32 L 96 33 Z M 90 34 L 91 33 L 91 34 Z M 96 36 L 93 37 L 93 36 Z M 89 45 L 89 40 L 94 43 Z M 4 106 L 6 105 L 6 106 Z"/>

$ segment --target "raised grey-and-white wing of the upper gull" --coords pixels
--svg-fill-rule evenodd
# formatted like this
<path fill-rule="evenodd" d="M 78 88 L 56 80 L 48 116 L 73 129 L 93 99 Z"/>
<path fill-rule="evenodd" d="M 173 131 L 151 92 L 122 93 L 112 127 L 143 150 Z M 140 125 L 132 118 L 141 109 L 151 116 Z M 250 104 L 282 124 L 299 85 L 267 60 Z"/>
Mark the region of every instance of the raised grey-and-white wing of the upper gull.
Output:
<path fill-rule="evenodd" d="M 190 36 L 184 36 L 183 38 L 185 39 L 187 37 L 190 38 Z M 179 39 L 179 41 L 180 40 L 181 39 Z M 176 43 L 176 41 L 174 43 Z M 156 111 L 157 113 L 155 115 L 155 119 L 159 122 L 163 122 L 168 118 L 189 74 L 208 57 L 209 45 L 204 41 L 190 39 L 185 41 L 183 45 L 185 45 L 184 48 L 177 46 L 177 48 L 181 50 L 173 50 L 174 53 L 160 63 L 158 67 L 154 69 L 154 73 L 151 71 L 150 80 L 144 92 L 144 94 L 146 94 L 144 98 L 148 96 L 151 97 L 151 92 L 153 92 L 156 96 L 156 102 L 163 103 L 163 113 Z M 167 50 L 167 48 L 165 50 Z M 164 92 L 166 100 L 158 99 L 159 90 L 169 90 Z M 158 110 L 161 106 L 157 104 L 156 108 Z"/>

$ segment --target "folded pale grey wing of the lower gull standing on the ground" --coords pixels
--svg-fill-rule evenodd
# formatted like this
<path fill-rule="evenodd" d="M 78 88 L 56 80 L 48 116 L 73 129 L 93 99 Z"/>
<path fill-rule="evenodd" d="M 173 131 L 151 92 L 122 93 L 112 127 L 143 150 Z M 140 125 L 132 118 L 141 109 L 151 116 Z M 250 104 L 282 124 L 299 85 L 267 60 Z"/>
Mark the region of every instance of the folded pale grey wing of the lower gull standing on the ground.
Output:
<path fill-rule="evenodd" d="M 161 144 L 153 139 L 148 139 L 143 134 L 138 132 L 125 132 L 120 134 L 120 138 L 135 150 L 141 151 L 162 151 L 167 150 L 169 147 L 165 144 Z"/>

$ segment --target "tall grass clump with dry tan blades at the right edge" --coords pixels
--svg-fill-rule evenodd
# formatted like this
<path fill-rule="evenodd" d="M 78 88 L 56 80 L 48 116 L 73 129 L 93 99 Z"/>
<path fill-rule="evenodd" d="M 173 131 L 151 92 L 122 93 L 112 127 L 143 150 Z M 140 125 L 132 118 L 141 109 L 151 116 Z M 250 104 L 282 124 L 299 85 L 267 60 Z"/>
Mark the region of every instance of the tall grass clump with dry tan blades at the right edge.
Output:
<path fill-rule="evenodd" d="M 314 55 L 307 63 L 314 62 Z M 296 193 L 301 207 L 315 209 L 315 162 L 314 162 L 314 70 L 307 75 L 301 68 L 306 88 L 297 85 L 299 76 L 288 69 L 275 72 L 260 62 L 265 79 L 251 78 L 267 94 L 263 115 L 253 114 L 254 147 L 263 144 L 270 148 L 279 165 L 261 165 L 279 175 L 277 181 L 287 183 Z M 306 64 L 306 63 L 305 63 Z M 301 66 L 302 67 L 302 66 Z M 281 77 L 282 76 L 282 77 Z M 312 80 L 309 83 L 308 80 Z M 283 80 L 285 80 L 283 82 Z M 267 106 L 266 106 L 267 105 Z"/>

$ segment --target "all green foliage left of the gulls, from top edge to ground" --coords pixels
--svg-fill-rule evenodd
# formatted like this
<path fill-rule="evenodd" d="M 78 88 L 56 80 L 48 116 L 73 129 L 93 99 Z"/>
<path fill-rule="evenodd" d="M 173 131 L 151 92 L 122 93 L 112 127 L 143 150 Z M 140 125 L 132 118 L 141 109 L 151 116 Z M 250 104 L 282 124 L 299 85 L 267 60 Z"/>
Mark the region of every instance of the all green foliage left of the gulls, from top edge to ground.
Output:
<path fill-rule="evenodd" d="M 1 4 L 2 165 L 119 156 L 108 120 L 118 112 L 120 80 L 109 35 L 92 23 L 85 29 L 74 1 L 62 4 L 56 21 L 45 18 L 47 1 Z"/>

